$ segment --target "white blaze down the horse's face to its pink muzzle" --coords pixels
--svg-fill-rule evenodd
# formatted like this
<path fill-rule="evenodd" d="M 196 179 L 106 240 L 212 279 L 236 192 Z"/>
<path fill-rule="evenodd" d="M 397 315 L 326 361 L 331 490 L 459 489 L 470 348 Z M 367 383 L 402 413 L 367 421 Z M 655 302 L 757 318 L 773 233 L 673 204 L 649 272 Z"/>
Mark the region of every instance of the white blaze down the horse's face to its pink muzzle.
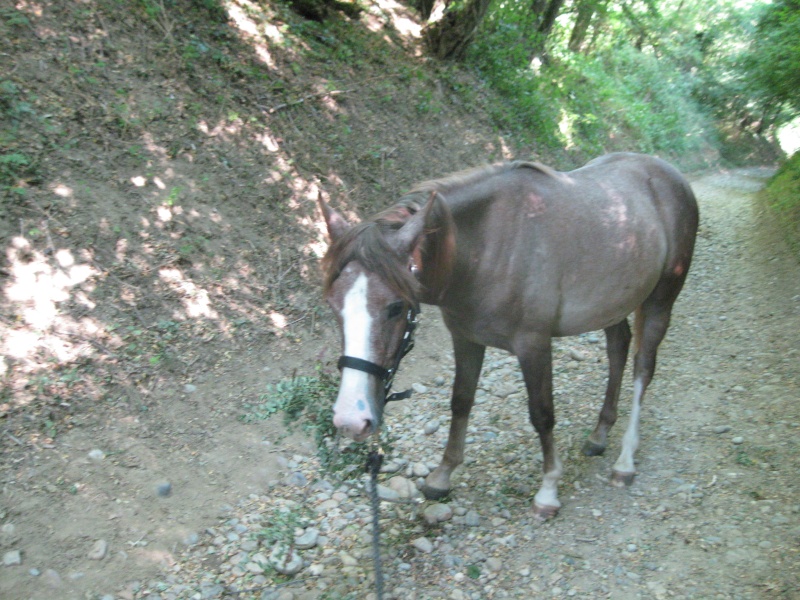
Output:
<path fill-rule="evenodd" d="M 369 281 L 364 273 L 359 274 L 347 291 L 342 306 L 342 331 L 346 356 L 372 361 L 370 334 L 372 317 L 367 309 Z M 345 367 L 339 396 L 333 406 L 333 424 L 345 435 L 362 441 L 372 433 L 376 425 L 375 415 L 369 402 L 370 375 L 363 371 Z"/>

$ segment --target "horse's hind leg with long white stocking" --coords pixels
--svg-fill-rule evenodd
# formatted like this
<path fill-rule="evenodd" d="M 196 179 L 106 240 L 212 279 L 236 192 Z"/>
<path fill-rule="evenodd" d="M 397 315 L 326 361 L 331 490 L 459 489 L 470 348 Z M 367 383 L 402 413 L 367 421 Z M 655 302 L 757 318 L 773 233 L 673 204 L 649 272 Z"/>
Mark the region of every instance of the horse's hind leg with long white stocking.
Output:
<path fill-rule="evenodd" d="M 622 437 L 622 452 L 611 475 L 611 482 L 619 487 L 630 485 L 636 475 L 633 455 L 639 447 L 639 412 L 644 393 L 656 369 L 656 353 L 667 333 L 672 302 L 666 305 L 645 302 L 636 314 L 636 338 L 638 348 L 633 363 L 633 406 L 625 435 Z"/>

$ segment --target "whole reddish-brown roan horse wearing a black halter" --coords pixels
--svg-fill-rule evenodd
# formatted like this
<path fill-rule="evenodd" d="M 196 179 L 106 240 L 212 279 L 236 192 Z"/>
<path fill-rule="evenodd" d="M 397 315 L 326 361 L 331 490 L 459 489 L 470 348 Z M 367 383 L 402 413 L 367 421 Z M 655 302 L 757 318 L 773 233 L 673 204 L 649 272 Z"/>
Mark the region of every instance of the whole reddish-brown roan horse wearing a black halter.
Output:
<path fill-rule="evenodd" d="M 553 517 L 561 506 L 562 463 L 553 436 L 552 339 L 603 329 L 608 383 L 583 452 L 606 449 L 633 338 L 633 406 L 611 474 L 613 485 L 631 485 L 644 394 L 699 221 L 677 169 L 633 153 L 601 156 L 568 172 L 536 162 L 494 164 L 421 183 L 354 225 L 321 195 L 318 202 L 330 238 L 323 295 L 343 337 L 333 409 L 340 433 L 364 441 L 376 432 L 413 343 L 419 305 L 436 305 L 455 357 L 452 420 L 441 463 L 422 492 L 429 499 L 450 493 L 491 346 L 518 359 L 543 457 L 533 512 Z"/>

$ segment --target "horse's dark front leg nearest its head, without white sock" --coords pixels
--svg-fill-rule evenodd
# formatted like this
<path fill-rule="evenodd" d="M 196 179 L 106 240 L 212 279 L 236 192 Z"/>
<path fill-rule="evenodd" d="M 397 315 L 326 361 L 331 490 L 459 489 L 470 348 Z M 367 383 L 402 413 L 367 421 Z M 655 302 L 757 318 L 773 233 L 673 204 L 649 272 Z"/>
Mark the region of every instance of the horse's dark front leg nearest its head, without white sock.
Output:
<path fill-rule="evenodd" d="M 453 418 L 442 462 L 428 475 L 422 486 L 422 493 L 429 500 L 440 500 L 450 493 L 450 476 L 464 462 L 467 423 L 475 402 L 475 389 L 478 387 L 486 346 L 474 344 L 453 334 L 453 350 L 456 360 L 456 376 L 450 400 Z"/>

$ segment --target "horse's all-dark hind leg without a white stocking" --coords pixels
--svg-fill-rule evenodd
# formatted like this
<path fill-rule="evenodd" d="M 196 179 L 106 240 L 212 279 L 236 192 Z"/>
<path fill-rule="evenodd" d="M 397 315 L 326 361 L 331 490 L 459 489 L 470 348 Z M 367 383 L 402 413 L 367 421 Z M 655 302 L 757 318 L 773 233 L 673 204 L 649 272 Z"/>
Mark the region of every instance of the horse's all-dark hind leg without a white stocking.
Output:
<path fill-rule="evenodd" d="M 622 374 L 628 361 L 628 348 L 631 344 L 631 328 L 628 320 L 624 319 L 606 328 L 606 353 L 608 355 L 608 386 L 606 398 L 597 427 L 583 445 L 586 456 L 599 456 L 603 454 L 608 443 L 608 432 L 617 421 L 617 402 L 622 387 Z"/>

